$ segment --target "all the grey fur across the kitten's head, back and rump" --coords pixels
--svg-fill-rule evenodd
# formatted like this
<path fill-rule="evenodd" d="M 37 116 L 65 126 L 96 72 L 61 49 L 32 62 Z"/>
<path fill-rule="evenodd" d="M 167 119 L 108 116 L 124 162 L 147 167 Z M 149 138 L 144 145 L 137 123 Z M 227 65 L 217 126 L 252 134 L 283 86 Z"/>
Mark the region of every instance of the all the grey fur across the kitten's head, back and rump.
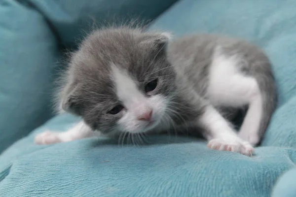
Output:
<path fill-rule="evenodd" d="M 106 113 L 118 102 L 110 79 L 113 62 L 134 76 L 139 87 L 159 78 L 161 88 L 155 94 L 172 101 L 169 107 L 176 112 L 171 115 L 174 124 L 190 123 L 209 103 L 206 92 L 209 65 L 218 45 L 227 56 L 240 54 L 241 71 L 254 76 L 259 83 L 265 109 L 262 135 L 276 104 L 268 59 L 249 43 L 216 35 L 192 35 L 168 41 L 162 33 L 128 27 L 95 31 L 71 57 L 59 94 L 60 108 L 81 116 L 93 130 L 111 133 L 120 118 Z M 227 106 L 216 107 L 221 112 L 232 110 Z"/>

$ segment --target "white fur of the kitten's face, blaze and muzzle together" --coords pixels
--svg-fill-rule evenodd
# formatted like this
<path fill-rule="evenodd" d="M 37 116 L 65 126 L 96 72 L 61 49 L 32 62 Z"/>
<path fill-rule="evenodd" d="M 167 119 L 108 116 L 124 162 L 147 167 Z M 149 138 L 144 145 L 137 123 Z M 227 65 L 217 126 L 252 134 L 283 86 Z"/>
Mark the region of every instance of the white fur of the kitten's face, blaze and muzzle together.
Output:
<path fill-rule="evenodd" d="M 126 110 L 118 121 L 119 130 L 131 133 L 146 132 L 159 123 L 166 107 L 165 99 L 159 95 L 147 97 L 141 92 L 132 79 L 117 66 L 111 66 L 112 78 L 116 86 L 116 95 L 123 103 Z M 148 121 L 139 120 L 144 114 L 152 111 L 151 124 Z"/>

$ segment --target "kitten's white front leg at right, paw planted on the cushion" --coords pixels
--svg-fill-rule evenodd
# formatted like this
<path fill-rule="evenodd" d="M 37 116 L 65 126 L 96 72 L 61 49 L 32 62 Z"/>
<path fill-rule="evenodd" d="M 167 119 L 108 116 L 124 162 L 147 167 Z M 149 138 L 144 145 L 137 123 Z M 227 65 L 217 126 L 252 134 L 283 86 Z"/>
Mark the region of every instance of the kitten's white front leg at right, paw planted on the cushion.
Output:
<path fill-rule="evenodd" d="M 205 130 L 209 148 L 252 155 L 254 151 L 252 145 L 239 138 L 227 120 L 213 106 L 205 107 L 204 113 L 199 118 L 199 126 Z"/>

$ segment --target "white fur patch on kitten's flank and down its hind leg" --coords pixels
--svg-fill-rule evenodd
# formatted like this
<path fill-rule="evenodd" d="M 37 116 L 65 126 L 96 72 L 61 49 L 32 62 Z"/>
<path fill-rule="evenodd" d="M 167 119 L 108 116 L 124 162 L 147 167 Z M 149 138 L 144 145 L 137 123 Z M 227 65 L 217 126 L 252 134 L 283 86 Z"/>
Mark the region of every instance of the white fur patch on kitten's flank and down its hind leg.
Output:
<path fill-rule="evenodd" d="M 214 105 L 242 107 L 249 105 L 239 135 L 252 144 L 259 142 L 262 98 L 256 79 L 241 74 L 237 58 L 225 58 L 219 50 L 210 66 L 208 94 Z"/>

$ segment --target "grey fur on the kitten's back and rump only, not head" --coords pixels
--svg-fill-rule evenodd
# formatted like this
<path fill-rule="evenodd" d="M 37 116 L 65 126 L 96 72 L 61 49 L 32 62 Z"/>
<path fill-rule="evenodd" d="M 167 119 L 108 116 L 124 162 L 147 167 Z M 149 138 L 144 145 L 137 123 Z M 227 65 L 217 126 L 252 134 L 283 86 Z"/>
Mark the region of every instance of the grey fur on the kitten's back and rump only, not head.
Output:
<path fill-rule="evenodd" d="M 208 99 L 206 94 L 208 68 L 217 46 L 222 47 L 223 55 L 227 57 L 239 56 L 240 62 L 237 66 L 242 73 L 253 76 L 259 84 L 264 105 L 259 129 L 259 135 L 262 137 L 275 110 L 277 97 L 270 62 L 257 46 L 244 40 L 220 35 L 195 34 L 171 42 L 168 47 L 168 57 L 176 65 L 177 73 L 185 76 L 189 84 L 193 84 L 194 90 Z M 227 113 L 229 110 L 231 113 L 236 113 L 227 106 L 216 107 L 228 118 L 233 117 Z"/>

